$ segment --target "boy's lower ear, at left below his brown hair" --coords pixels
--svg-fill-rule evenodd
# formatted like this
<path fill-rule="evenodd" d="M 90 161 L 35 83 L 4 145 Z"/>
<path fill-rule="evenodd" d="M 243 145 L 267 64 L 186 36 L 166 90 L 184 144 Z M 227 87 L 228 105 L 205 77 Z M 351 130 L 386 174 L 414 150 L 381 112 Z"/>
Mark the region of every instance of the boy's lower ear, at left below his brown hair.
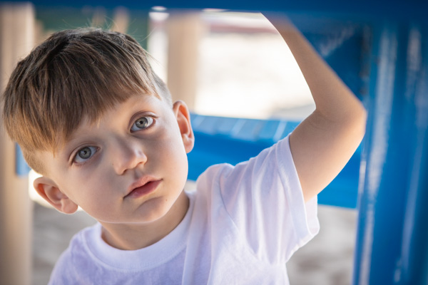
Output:
<path fill-rule="evenodd" d="M 39 195 L 59 212 L 73 214 L 77 211 L 78 205 L 61 192 L 56 183 L 50 178 L 38 177 L 34 180 L 33 185 Z"/>

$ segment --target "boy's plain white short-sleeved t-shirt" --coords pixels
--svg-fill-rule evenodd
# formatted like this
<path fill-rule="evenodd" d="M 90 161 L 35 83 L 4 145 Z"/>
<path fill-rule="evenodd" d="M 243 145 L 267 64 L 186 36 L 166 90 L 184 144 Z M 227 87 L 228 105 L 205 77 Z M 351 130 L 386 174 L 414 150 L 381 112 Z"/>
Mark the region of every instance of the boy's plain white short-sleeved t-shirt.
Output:
<path fill-rule="evenodd" d="M 288 137 L 248 162 L 208 168 L 196 189 L 183 221 L 149 247 L 110 247 L 101 224 L 78 232 L 50 284 L 289 284 L 285 263 L 320 226 Z"/>

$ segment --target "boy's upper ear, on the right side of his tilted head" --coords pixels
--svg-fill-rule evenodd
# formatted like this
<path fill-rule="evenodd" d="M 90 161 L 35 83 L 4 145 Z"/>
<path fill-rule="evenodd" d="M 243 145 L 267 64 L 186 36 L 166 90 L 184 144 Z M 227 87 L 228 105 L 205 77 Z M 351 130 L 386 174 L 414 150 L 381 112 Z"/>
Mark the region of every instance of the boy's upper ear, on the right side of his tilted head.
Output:
<path fill-rule="evenodd" d="M 177 119 L 178 128 L 180 128 L 181 138 L 185 152 L 190 152 L 195 144 L 195 136 L 193 135 L 192 125 L 190 123 L 190 113 L 187 105 L 181 100 L 178 100 L 173 105 L 175 118 Z"/>

